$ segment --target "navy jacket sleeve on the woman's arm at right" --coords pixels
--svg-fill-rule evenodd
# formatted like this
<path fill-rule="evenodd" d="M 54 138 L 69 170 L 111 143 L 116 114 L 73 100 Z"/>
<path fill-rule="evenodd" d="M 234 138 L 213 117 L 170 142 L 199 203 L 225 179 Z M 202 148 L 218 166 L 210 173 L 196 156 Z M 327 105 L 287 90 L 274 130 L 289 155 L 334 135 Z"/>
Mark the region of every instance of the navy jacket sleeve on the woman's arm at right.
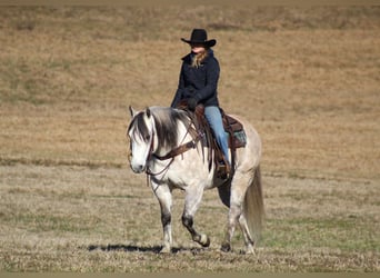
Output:
<path fill-rule="evenodd" d="M 206 86 L 196 92 L 198 101 L 206 100 L 212 95 L 217 93 L 218 80 L 219 80 L 219 62 L 217 59 L 210 59 L 206 70 Z"/>

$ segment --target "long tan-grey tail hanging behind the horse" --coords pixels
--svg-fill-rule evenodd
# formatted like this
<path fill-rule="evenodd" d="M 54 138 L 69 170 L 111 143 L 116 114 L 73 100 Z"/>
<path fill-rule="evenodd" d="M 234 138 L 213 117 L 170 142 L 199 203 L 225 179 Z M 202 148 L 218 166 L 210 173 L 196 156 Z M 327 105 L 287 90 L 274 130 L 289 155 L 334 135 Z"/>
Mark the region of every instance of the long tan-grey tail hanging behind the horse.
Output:
<path fill-rule="evenodd" d="M 246 192 L 243 214 L 251 236 L 257 241 L 260 238 L 266 215 L 262 197 L 260 166 L 254 169 Z"/>

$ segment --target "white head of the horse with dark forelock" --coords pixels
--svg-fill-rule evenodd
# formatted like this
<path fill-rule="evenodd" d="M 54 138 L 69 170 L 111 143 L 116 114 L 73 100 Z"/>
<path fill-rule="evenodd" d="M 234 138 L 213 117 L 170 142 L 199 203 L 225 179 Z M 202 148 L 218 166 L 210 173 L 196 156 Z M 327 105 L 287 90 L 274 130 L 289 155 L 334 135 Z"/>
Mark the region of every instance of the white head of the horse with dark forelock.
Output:
<path fill-rule="evenodd" d="M 128 127 L 130 139 L 130 166 L 137 173 L 147 168 L 147 161 L 152 152 L 154 141 L 154 119 L 147 108 L 144 111 L 136 111 L 129 108 L 131 122 Z"/>

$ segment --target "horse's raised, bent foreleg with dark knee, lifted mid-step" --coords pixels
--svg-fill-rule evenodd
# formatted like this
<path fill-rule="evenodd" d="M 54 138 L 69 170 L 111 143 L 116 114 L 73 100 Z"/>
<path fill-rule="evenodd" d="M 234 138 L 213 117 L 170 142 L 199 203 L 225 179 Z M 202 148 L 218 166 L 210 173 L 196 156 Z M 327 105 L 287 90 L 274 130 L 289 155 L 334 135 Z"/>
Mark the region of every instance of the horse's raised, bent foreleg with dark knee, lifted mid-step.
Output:
<path fill-rule="evenodd" d="M 186 202 L 184 202 L 184 210 L 182 215 L 182 224 L 191 234 L 191 238 L 193 241 L 200 244 L 203 247 L 210 246 L 210 239 L 204 234 L 199 234 L 193 227 L 193 216 L 197 212 L 200 201 L 202 199 L 203 190 L 202 189 L 194 189 L 194 190 L 187 190 L 186 192 Z"/>

